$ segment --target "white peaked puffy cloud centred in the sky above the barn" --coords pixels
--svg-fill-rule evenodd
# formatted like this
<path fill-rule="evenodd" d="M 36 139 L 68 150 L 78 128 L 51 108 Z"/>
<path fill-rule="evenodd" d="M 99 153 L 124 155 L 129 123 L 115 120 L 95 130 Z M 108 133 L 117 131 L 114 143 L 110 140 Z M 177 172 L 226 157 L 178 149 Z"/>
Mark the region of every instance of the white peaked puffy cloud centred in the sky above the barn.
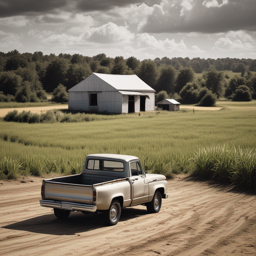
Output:
<path fill-rule="evenodd" d="M 97 28 L 91 28 L 85 33 L 84 38 L 88 41 L 96 43 L 120 43 L 131 42 L 134 34 L 131 33 L 126 27 L 117 26 L 109 22 Z"/>

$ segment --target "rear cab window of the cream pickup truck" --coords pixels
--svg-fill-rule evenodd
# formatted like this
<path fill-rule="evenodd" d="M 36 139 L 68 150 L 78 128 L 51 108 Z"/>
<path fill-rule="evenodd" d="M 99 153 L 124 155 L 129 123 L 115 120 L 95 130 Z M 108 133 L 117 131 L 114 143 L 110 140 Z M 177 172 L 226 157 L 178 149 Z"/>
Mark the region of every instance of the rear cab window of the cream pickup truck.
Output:
<path fill-rule="evenodd" d="M 88 170 L 101 170 L 112 172 L 123 172 L 124 164 L 120 161 L 89 159 L 87 161 Z"/>

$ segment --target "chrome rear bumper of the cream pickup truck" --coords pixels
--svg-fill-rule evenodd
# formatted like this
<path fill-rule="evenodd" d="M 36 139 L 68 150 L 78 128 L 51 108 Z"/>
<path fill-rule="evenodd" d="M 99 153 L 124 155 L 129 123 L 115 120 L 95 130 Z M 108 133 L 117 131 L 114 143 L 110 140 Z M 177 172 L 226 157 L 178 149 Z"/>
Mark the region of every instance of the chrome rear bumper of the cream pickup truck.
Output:
<path fill-rule="evenodd" d="M 43 207 L 58 208 L 69 211 L 84 211 L 84 212 L 96 212 L 97 206 L 91 204 L 78 204 L 64 201 L 54 200 L 40 200 L 40 205 Z"/>

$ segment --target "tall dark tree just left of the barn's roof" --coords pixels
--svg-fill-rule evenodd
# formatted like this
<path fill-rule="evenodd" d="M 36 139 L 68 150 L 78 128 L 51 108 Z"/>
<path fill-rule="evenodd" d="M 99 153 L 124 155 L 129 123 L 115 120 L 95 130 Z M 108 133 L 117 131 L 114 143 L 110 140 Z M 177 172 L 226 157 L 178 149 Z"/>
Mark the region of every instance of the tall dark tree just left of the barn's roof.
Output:
<path fill-rule="evenodd" d="M 46 68 L 45 76 L 42 79 L 43 87 L 47 92 L 52 92 L 58 84 L 64 84 L 69 62 L 66 59 L 53 60 Z"/>

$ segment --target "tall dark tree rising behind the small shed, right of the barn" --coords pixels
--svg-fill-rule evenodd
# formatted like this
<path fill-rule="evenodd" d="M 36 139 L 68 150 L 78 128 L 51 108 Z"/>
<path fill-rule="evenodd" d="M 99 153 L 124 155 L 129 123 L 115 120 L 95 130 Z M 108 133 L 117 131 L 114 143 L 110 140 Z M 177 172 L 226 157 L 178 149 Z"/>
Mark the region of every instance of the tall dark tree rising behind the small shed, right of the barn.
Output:
<path fill-rule="evenodd" d="M 165 66 L 160 71 L 160 76 L 157 80 L 156 91 L 166 91 L 174 93 L 174 83 L 176 80 L 176 69 L 173 66 Z"/>

